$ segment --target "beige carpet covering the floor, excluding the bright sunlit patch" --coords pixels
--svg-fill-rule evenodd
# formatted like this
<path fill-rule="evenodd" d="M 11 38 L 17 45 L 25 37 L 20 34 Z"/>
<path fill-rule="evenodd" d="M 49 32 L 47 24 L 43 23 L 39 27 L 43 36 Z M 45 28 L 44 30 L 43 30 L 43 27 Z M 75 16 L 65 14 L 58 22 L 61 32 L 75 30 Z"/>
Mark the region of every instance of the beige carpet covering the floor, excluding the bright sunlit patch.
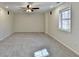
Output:
<path fill-rule="evenodd" d="M 77 55 L 44 33 L 14 33 L 0 41 L 0 56 L 32 57 L 35 51 L 47 48 L 49 57 L 76 57 Z"/>

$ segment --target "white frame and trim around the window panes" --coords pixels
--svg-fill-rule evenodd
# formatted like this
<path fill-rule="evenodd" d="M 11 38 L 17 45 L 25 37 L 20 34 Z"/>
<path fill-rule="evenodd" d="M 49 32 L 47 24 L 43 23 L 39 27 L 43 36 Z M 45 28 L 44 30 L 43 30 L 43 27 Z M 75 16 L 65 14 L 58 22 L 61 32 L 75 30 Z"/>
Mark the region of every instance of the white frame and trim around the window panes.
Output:
<path fill-rule="evenodd" d="M 62 21 L 63 20 L 67 20 L 67 18 L 66 19 L 62 19 L 62 13 L 64 13 L 64 12 L 66 12 L 66 11 L 69 11 L 70 10 L 70 18 L 68 18 L 68 20 L 69 20 L 69 22 L 70 22 L 70 27 L 69 27 L 69 29 L 63 29 L 63 23 L 62 23 Z M 59 29 L 61 30 L 61 31 L 64 31 L 64 32 L 71 32 L 71 28 L 72 28 L 72 10 L 71 10 L 71 8 L 70 7 L 67 7 L 67 8 L 64 8 L 64 9 L 62 9 L 62 10 L 60 10 L 59 11 Z"/>

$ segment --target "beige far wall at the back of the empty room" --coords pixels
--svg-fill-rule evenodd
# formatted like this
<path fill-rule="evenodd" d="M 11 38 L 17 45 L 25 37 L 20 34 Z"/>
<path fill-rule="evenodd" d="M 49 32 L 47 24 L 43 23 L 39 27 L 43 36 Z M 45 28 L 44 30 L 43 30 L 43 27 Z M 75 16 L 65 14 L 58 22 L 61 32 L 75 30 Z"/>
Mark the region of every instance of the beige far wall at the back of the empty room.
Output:
<path fill-rule="evenodd" d="M 44 14 L 15 14 L 15 32 L 44 32 Z"/>

